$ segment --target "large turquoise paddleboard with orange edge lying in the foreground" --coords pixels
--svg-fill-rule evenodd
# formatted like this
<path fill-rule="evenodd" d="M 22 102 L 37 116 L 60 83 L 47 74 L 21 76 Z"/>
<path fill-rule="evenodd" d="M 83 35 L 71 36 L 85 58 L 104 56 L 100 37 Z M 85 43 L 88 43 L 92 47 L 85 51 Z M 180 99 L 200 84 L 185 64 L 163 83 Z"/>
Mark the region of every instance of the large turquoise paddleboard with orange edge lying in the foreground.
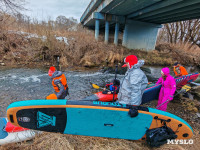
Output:
<path fill-rule="evenodd" d="M 137 109 L 130 117 L 128 111 Z M 28 100 L 10 104 L 9 121 L 20 127 L 62 134 L 129 140 L 145 139 L 147 129 L 164 123 L 177 139 L 190 139 L 191 126 L 183 119 L 153 108 L 130 106 L 115 102 L 76 100 Z"/>

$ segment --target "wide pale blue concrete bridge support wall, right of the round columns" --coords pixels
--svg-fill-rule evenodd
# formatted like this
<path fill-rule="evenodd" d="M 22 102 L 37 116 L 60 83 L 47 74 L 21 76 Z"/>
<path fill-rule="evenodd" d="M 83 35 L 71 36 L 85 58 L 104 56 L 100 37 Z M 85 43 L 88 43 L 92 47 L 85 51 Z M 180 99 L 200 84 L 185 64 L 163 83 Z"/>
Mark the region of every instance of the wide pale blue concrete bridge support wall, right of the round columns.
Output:
<path fill-rule="evenodd" d="M 129 49 L 150 51 L 155 49 L 158 29 L 162 25 L 128 20 L 122 45 Z"/>

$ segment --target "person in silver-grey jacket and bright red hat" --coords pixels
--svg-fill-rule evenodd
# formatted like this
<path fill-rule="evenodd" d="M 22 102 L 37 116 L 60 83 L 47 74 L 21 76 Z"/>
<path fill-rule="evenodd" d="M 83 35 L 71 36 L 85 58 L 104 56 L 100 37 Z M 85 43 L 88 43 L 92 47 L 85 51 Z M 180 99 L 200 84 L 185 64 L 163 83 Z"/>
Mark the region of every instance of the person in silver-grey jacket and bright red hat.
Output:
<path fill-rule="evenodd" d="M 142 103 L 142 95 L 147 87 L 148 79 L 140 69 L 144 65 L 144 60 L 139 60 L 135 55 L 129 55 L 124 59 L 122 67 L 128 70 L 121 82 L 118 93 L 118 102 L 121 104 L 137 105 Z"/>

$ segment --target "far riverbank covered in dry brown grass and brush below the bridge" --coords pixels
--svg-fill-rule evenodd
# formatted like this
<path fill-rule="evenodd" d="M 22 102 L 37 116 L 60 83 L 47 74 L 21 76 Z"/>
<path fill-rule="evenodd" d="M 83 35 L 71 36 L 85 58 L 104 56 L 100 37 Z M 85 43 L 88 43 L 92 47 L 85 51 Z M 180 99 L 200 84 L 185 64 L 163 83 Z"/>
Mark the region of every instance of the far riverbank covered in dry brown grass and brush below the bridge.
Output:
<path fill-rule="evenodd" d="M 172 66 L 178 61 L 183 65 L 200 68 L 198 48 L 163 43 L 150 52 L 129 50 L 121 44 L 105 44 L 101 40 L 103 37 L 97 42 L 93 34 L 81 27 L 76 32 L 50 30 L 44 35 L 39 31 L 23 34 L 17 31 L 7 32 L 5 37 L 0 37 L 0 66 L 49 67 L 56 65 L 56 58 L 59 56 L 62 68 L 101 68 L 115 66 L 123 63 L 126 56 L 136 55 L 138 59 L 145 60 L 146 65 Z M 57 40 L 57 37 L 61 40 Z"/>

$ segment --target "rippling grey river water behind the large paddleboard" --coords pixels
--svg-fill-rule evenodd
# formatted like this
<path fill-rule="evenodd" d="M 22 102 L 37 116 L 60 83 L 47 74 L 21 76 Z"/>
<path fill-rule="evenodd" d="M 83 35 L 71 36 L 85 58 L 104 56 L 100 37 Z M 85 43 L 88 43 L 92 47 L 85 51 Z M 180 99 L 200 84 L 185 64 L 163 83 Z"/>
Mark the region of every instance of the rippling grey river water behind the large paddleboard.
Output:
<path fill-rule="evenodd" d="M 160 77 L 161 67 L 148 67 L 154 78 Z M 43 69 L 1 69 L 0 70 L 0 117 L 6 115 L 7 106 L 14 101 L 45 99 L 53 93 L 51 79 Z M 95 92 L 91 83 L 104 86 L 114 79 L 115 75 L 99 71 L 66 71 L 64 72 L 70 95 L 67 99 L 80 100 Z M 117 75 L 121 80 L 123 75 Z"/>

